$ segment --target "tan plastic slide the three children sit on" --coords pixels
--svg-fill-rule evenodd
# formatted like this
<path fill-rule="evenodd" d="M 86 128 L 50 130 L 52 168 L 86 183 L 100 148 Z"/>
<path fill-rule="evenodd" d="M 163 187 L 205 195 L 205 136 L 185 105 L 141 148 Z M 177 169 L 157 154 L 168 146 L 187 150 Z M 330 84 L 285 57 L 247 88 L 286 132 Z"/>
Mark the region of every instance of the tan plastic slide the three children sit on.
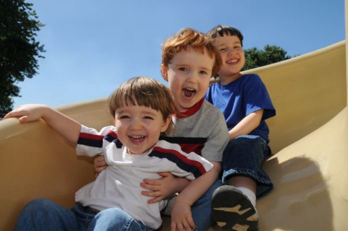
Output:
<path fill-rule="evenodd" d="M 274 189 L 257 201 L 261 231 L 348 230 L 345 57 L 341 41 L 248 71 L 262 77 L 277 110 L 267 120 L 274 155 L 264 168 Z M 58 109 L 91 127 L 112 123 L 105 99 Z M 0 121 L 0 230 L 12 230 L 37 197 L 71 207 L 93 172 L 92 159 L 76 157 L 44 121 Z M 161 230 L 170 230 L 168 217 Z"/>

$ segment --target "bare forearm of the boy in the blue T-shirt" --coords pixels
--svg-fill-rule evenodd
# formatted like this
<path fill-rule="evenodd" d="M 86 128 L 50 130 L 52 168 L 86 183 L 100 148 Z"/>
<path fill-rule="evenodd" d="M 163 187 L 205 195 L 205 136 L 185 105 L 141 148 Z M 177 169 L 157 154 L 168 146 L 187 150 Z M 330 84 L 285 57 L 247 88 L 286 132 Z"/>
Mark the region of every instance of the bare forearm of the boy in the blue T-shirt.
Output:
<path fill-rule="evenodd" d="M 234 139 L 239 135 L 246 135 L 255 129 L 261 121 L 263 109 L 256 110 L 246 115 L 240 122 L 228 131 L 229 140 Z"/>

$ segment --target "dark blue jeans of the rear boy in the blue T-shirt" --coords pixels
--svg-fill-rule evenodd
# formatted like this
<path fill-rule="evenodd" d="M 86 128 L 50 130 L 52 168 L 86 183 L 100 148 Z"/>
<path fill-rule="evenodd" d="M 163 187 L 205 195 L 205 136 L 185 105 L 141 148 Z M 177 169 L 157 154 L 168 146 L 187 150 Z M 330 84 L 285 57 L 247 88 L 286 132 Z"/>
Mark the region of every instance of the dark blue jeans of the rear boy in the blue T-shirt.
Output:
<path fill-rule="evenodd" d="M 256 197 L 269 193 L 273 183 L 267 173 L 262 169 L 262 164 L 270 155 L 270 149 L 258 135 L 240 135 L 229 141 L 223 151 L 222 157 L 222 182 L 233 175 L 247 175 L 257 183 Z"/>

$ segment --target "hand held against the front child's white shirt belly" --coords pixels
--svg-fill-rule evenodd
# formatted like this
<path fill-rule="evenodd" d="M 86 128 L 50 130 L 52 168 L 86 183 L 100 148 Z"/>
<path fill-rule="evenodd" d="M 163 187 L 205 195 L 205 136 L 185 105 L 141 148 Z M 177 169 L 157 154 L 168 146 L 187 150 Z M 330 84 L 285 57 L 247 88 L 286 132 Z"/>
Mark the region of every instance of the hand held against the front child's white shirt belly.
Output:
<path fill-rule="evenodd" d="M 162 176 L 159 179 L 144 179 L 140 186 L 148 191 L 141 191 L 142 195 L 150 196 L 152 199 L 147 200 L 147 203 L 155 203 L 162 200 L 171 194 L 177 192 L 175 177 L 170 172 L 157 172 Z"/>

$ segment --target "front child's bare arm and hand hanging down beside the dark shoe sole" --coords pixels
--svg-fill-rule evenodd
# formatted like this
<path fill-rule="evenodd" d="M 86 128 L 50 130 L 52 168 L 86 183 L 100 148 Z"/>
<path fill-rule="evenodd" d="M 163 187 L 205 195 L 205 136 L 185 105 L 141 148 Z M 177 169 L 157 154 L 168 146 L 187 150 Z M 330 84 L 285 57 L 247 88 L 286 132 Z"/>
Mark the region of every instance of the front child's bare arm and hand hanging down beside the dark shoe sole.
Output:
<path fill-rule="evenodd" d="M 171 231 L 182 230 L 182 228 L 190 230 L 195 227 L 191 205 L 215 182 L 221 171 L 220 162 L 211 163 L 213 167 L 209 171 L 192 180 L 176 197 L 171 211 Z"/>

